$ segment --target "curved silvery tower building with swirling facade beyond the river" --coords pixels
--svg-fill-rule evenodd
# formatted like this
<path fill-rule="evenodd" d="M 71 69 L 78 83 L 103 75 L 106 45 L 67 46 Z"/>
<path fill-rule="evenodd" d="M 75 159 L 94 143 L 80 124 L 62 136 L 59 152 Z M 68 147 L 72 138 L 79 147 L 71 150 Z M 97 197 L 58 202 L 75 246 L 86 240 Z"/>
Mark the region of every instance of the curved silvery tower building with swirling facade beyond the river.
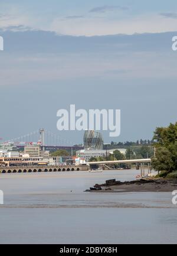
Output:
<path fill-rule="evenodd" d="M 101 133 L 97 131 L 85 131 L 84 148 L 89 150 L 102 150 L 103 137 Z"/>

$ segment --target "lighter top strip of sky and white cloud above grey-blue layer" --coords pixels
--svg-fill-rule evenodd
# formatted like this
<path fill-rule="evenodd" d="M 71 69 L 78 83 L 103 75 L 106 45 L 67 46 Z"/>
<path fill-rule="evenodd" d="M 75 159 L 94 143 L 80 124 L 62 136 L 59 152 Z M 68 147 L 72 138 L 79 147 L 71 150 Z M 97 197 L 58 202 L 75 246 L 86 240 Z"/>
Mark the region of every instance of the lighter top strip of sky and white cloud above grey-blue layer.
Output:
<path fill-rule="evenodd" d="M 170 1 L 1 1 L 1 27 L 23 25 L 69 35 L 158 33 L 176 30 Z"/>

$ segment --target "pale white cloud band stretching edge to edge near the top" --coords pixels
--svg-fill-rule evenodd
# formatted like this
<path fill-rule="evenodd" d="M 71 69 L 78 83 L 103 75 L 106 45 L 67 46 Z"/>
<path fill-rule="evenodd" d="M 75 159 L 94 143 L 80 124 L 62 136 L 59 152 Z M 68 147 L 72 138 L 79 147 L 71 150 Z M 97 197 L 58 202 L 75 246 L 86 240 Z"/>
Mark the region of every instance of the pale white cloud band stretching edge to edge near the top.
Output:
<path fill-rule="evenodd" d="M 96 10 L 115 9 L 115 7 L 99 7 Z M 118 7 L 117 7 L 118 8 Z M 120 8 L 120 7 L 119 7 Z M 94 10 L 94 9 L 93 9 Z M 8 6 L 0 12 L 0 28 L 24 26 L 27 29 L 55 31 L 67 35 L 108 35 L 134 33 L 160 33 L 176 31 L 177 19 L 166 18 L 166 15 L 148 14 L 136 17 L 117 13 L 117 17 L 88 15 L 70 15 L 68 17 L 48 18 L 47 16 L 33 16 L 19 7 Z M 172 15 L 172 14 L 171 14 Z M 168 14 L 169 17 L 169 14 Z M 22 27 L 19 27 L 21 30 Z"/>

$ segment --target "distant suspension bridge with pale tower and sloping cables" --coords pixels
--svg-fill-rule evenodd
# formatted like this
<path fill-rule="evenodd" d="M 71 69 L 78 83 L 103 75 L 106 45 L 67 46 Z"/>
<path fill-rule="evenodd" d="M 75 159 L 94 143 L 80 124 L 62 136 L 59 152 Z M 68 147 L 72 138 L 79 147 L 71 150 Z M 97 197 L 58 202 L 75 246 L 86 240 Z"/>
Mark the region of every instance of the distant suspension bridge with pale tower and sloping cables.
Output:
<path fill-rule="evenodd" d="M 53 132 L 47 131 L 46 129 L 39 129 L 37 131 L 29 132 L 28 134 L 21 135 L 17 138 L 12 138 L 9 140 L 3 140 L 1 138 L 1 144 L 11 143 L 18 148 L 23 148 L 25 145 L 41 145 L 43 150 L 57 150 L 57 149 L 67 149 L 67 150 L 81 150 L 82 145 L 77 145 L 76 143 L 69 141 L 63 137 L 60 137 Z"/>

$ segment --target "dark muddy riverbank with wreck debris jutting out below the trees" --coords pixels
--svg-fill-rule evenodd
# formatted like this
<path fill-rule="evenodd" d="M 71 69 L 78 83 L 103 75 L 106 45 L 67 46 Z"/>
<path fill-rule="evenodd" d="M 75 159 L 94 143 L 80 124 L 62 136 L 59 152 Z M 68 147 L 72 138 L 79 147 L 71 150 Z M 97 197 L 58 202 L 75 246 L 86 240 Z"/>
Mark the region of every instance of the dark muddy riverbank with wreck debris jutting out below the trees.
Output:
<path fill-rule="evenodd" d="M 107 180 L 104 184 L 95 184 L 86 192 L 99 193 L 124 193 L 124 192 L 172 192 L 177 190 L 176 180 L 163 179 L 141 179 L 132 182 L 119 182 L 116 180 Z"/>

